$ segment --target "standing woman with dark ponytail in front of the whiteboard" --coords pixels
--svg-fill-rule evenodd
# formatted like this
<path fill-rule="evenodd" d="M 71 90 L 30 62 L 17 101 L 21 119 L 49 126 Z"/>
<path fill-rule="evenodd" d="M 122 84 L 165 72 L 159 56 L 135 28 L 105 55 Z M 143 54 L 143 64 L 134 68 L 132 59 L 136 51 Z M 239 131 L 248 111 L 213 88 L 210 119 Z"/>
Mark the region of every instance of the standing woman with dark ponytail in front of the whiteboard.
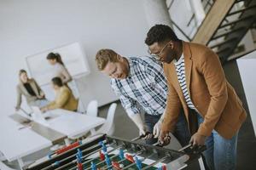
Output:
<path fill-rule="evenodd" d="M 60 54 L 49 53 L 46 59 L 48 59 L 50 65 L 54 65 L 54 77 L 61 77 L 61 81 L 63 82 L 63 84 L 67 84 L 67 82 L 72 81 L 72 77 L 70 76 L 67 68 L 62 62 Z"/>

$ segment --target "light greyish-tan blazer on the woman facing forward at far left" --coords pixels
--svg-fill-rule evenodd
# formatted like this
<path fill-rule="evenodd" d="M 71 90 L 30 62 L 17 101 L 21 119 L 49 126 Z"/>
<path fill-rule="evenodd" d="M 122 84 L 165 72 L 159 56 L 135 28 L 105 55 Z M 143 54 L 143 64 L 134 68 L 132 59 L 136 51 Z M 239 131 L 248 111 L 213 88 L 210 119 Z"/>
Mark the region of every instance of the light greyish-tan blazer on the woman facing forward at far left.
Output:
<path fill-rule="evenodd" d="M 26 91 L 26 88 L 24 87 L 23 83 L 20 82 L 17 87 L 17 102 L 16 102 L 16 108 L 20 108 L 21 105 L 21 101 L 22 101 L 22 95 L 25 96 L 26 98 L 26 102 L 28 105 L 33 105 L 33 102 L 35 102 L 36 100 L 39 99 L 39 96 L 43 96 L 44 92 L 42 91 L 42 89 L 38 86 L 38 83 L 32 78 L 28 80 L 28 83 L 30 84 L 30 86 L 32 87 L 33 91 L 35 92 L 35 94 L 37 96 L 32 96 L 31 94 L 29 94 Z"/>

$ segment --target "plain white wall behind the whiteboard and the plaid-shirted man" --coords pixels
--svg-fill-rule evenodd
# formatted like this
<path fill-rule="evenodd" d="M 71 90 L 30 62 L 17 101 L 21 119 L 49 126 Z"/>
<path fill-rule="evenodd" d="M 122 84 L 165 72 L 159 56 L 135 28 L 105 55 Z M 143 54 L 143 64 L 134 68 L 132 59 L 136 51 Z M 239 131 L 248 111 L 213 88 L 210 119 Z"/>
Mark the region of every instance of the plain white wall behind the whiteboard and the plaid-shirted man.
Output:
<path fill-rule="evenodd" d="M 17 74 L 26 68 L 26 56 L 71 42 L 81 43 L 90 64 L 90 76 L 79 79 L 84 104 L 116 99 L 108 77 L 96 70 L 96 51 L 146 54 L 147 31 L 138 0 L 0 0 L 0 116 L 14 112 Z"/>

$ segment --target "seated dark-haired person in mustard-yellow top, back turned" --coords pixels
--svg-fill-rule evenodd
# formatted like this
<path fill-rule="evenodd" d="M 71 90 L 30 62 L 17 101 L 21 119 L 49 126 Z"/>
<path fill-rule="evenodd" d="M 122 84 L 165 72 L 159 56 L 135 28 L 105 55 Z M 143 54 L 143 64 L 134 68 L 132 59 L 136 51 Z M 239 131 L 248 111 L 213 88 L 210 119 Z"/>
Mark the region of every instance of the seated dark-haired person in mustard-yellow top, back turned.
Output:
<path fill-rule="evenodd" d="M 45 112 L 54 109 L 77 111 L 78 100 L 74 98 L 72 91 L 63 84 L 61 78 L 54 77 L 51 82 L 56 92 L 55 100 L 41 108 L 41 111 Z"/>

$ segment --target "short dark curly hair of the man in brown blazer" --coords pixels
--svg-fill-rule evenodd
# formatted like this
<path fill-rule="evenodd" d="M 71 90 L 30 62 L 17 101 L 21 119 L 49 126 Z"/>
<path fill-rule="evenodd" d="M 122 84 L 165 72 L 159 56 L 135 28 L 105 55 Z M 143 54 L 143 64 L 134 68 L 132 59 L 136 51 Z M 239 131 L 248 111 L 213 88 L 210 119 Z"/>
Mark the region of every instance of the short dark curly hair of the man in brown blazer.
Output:
<path fill-rule="evenodd" d="M 172 40 L 175 42 L 180 41 L 174 31 L 172 31 L 172 28 L 170 26 L 166 25 L 155 25 L 152 26 L 148 33 L 147 37 L 145 39 L 145 43 L 150 46 L 154 42 L 165 42 L 166 40 Z"/>

